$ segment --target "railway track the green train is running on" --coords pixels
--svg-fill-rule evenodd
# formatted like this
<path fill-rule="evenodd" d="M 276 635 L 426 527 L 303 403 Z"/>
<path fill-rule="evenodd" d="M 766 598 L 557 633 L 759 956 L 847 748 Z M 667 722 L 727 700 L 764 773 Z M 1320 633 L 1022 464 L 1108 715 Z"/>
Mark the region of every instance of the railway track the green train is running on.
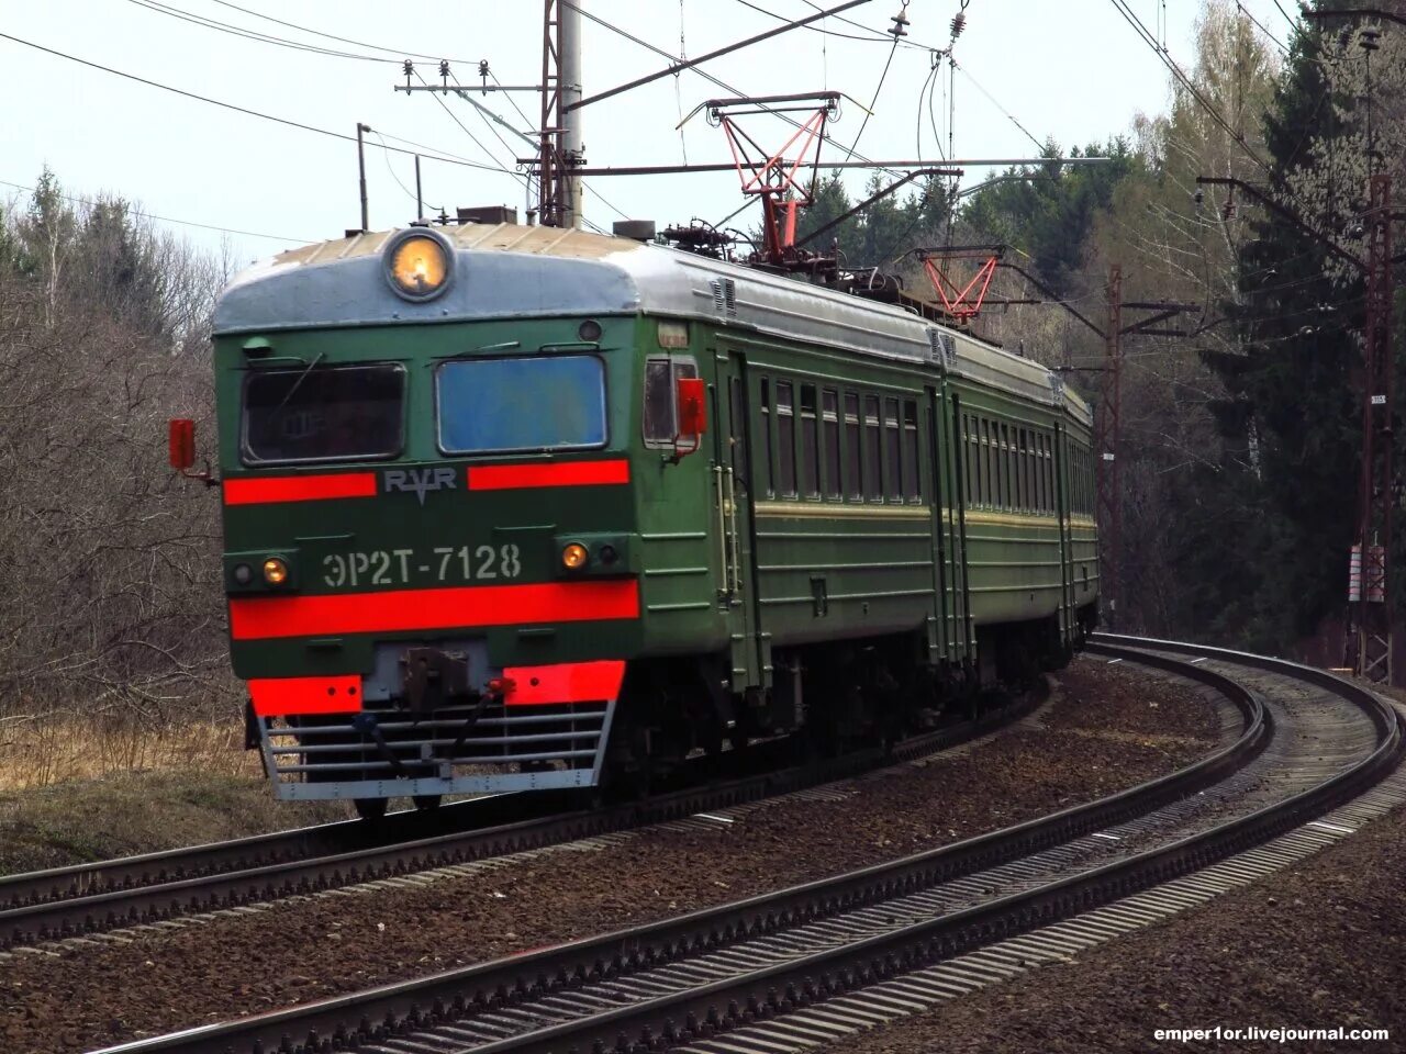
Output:
<path fill-rule="evenodd" d="M 778 769 L 785 743 L 758 743 L 751 748 L 755 774 L 609 808 L 593 808 L 579 791 L 499 794 L 391 814 L 380 825 L 343 821 L 0 877 L 0 951 L 467 864 L 800 791 L 957 745 L 1018 720 L 1033 704 L 1029 697 L 914 736 L 889 753 L 866 749 L 815 766 Z M 695 766 L 699 780 L 710 765 L 700 759 Z"/>

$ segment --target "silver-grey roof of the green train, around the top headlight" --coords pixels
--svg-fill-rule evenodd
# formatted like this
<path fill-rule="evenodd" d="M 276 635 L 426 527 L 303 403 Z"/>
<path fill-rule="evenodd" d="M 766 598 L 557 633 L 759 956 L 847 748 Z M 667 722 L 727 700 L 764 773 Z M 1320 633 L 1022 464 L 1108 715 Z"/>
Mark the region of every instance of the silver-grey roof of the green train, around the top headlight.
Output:
<path fill-rule="evenodd" d="M 219 299 L 215 333 L 644 312 L 931 363 L 1043 403 L 1062 398 L 1038 363 L 904 308 L 786 275 L 585 230 L 465 223 L 434 232 L 456 261 L 450 288 L 433 301 L 413 304 L 387 285 L 381 249 L 395 232 L 356 235 L 243 271 Z M 1064 398 L 1088 419 L 1083 399 Z"/>

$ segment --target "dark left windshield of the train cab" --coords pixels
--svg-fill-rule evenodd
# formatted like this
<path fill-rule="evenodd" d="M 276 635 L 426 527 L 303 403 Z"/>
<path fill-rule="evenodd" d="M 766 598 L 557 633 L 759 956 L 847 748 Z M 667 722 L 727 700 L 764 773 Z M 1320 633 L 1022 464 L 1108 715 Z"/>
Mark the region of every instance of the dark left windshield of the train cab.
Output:
<path fill-rule="evenodd" d="M 256 370 L 245 379 L 245 464 L 394 458 L 405 368 L 395 363 Z"/>

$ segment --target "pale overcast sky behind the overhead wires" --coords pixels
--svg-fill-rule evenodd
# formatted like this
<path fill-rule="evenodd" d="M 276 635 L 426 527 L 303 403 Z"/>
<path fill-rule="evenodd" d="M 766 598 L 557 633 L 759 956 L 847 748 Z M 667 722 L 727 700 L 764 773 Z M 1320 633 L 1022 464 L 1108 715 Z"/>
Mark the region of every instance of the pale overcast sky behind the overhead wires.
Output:
<path fill-rule="evenodd" d="M 814 11 L 806 0 L 751 0 L 751 7 L 742 0 L 579 1 L 591 14 L 673 56 L 681 51 L 681 31 L 682 48 L 693 56 L 778 25 L 763 10 L 787 18 Z M 825 0 L 825 6 L 841 1 Z M 1154 35 L 1164 35 L 1171 58 L 1189 66 L 1201 0 L 1128 4 Z M 869 34 L 828 18 L 828 34 L 794 30 L 703 69 L 747 94 L 830 89 L 868 105 L 890 45 L 837 34 L 863 38 L 882 31 L 898 6 L 898 0 L 870 0 L 845 13 Z M 1292 13 L 1289 0 L 1244 0 L 1243 6 L 1288 42 L 1289 25 L 1279 8 Z M 1032 138 L 1053 138 L 1064 149 L 1099 142 L 1126 131 L 1139 111 L 1156 114 L 1167 105 L 1166 67 L 1112 0 L 967 0 L 966 28 L 955 48 L 960 69 L 949 82 L 943 65 L 939 82 L 925 93 L 927 48 L 949 44 L 950 20 L 959 10 L 960 0 L 910 1 L 907 39 L 924 48 L 894 51 L 858 145 L 860 155 L 935 159 L 950 136 L 956 157 L 1024 157 L 1036 150 Z M 436 59 L 443 56 L 464 84 L 478 83 L 479 59 L 488 59 L 503 84 L 536 84 L 541 76 L 540 0 L 238 0 L 238 7 L 219 0 L 0 0 L 0 34 L 160 84 L 347 135 L 364 121 L 375 129 L 367 149 L 373 229 L 404 225 L 415 214 L 413 160 L 378 149 L 381 135 L 391 145 L 413 141 L 432 148 L 427 153 L 509 170 L 512 159 L 527 150 L 495 126 L 501 142 L 488 121 L 454 96 L 441 105 L 439 96 L 406 96 L 392 86 L 404 83 L 399 60 L 412 52 L 427 56 L 416 58 L 416 69 L 432 82 L 437 80 Z M 193 17 L 343 55 L 238 37 L 194 24 Z M 30 187 L 48 164 L 67 193 L 108 191 L 157 216 L 250 232 L 173 226 L 202 247 L 215 249 L 228 238 L 240 261 L 299 240 L 337 238 L 359 222 L 352 142 L 183 98 L 3 37 L 0 56 L 0 90 L 10 101 L 0 180 Z M 665 65 L 657 53 L 586 21 L 588 96 Z M 949 93 L 955 97 L 950 124 Z M 685 125 L 682 138 L 675 131 L 682 114 L 721 94 L 727 93 L 714 83 L 685 72 L 585 108 L 588 162 L 678 164 L 685 152 L 693 163 L 730 160 L 723 132 L 702 117 Z M 536 94 L 512 96 L 527 119 L 505 94 L 475 98 L 522 131 L 536 124 Z M 862 124 L 863 108 L 845 103 L 823 160 L 838 157 Z M 756 132 L 763 143 L 780 145 L 779 125 L 763 118 Z M 965 184 L 986 171 L 970 169 Z M 849 177 L 856 191 L 863 181 L 863 173 Z M 426 160 L 423 184 L 426 201 L 450 212 L 456 205 L 509 204 L 522 214 L 524 204 L 522 178 L 509 173 Z M 586 216 L 606 229 L 621 214 L 657 219 L 661 226 L 693 216 L 716 222 L 741 204 L 734 173 L 609 177 L 592 180 L 591 187 L 599 197 L 588 195 Z M 20 193 L 3 186 L 0 191 Z M 742 214 L 735 222 L 755 226 L 756 218 Z"/>

